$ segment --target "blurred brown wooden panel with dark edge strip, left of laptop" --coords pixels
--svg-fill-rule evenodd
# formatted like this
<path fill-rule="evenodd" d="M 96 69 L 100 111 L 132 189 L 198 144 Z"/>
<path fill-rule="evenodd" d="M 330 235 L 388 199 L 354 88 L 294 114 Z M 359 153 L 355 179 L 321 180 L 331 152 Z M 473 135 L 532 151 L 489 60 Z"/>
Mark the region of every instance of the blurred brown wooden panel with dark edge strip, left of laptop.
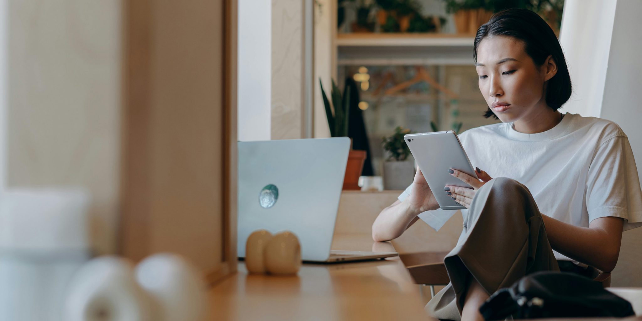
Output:
<path fill-rule="evenodd" d="M 181 254 L 216 281 L 236 268 L 236 1 L 127 10 L 121 252 Z"/>

